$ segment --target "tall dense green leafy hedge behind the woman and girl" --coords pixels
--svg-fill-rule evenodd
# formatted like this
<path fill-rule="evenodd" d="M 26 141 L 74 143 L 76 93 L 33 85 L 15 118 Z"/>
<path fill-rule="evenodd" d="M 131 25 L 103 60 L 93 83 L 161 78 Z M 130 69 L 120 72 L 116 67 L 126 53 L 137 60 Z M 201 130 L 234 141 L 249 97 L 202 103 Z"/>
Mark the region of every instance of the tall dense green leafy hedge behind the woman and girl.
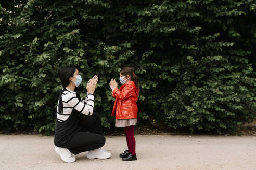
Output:
<path fill-rule="evenodd" d="M 54 132 L 58 70 L 100 77 L 95 108 L 110 128 L 111 78 L 140 80 L 140 119 L 190 132 L 235 131 L 256 119 L 256 3 L 1 1 L 0 131 Z"/>

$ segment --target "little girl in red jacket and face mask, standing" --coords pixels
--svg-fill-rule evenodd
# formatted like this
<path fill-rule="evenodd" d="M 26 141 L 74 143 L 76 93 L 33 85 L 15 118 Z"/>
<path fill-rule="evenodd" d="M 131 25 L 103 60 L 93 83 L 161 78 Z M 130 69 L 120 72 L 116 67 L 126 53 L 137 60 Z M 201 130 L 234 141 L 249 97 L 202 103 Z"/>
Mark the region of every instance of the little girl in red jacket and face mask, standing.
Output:
<path fill-rule="evenodd" d="M 124 67 L 120 73 L 120 83 L 123 84 L 118 89 L 118 83 L 112 79 L 109 83 L 112 95 L 116 99 L 111 116 L 116 116 L 116 127 L 124 127 L 124 133 L 128 150 L 120 154 L 123 161 L 137 160 L 135 153 L 136 141 L 134 138 L 134 125 L 137 123 L 137 100 L 139 94 L 138 77 L 134 73 L 133 67 Z"/>

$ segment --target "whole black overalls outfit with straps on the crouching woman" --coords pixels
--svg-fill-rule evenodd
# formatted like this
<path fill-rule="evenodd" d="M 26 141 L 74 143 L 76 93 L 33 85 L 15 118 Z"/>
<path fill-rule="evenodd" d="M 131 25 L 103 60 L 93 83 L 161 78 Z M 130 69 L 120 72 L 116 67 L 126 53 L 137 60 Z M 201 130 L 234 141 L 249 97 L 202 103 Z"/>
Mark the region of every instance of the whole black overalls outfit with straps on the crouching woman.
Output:
<path fill-rule="evenodd" d="M 67 89 L 64 88 L 63 91 L 65 90 Z M 60 97 L 63 91 L 61 91 Z M 76 93 L 76 96 L 81 101 L 79 93 Z M 73 154 L 79 154 L 104 146 L 106 139 L 103 136 L 100 115 L 94 112 L 93 115 L 86 118 L 87 123 L 85 125 L 82 125 L 80 121 L 81 116 L 81 112 L 73 109 L 66 121 L 61 122 L 56 119 L 54 134 L 55 146 L 67 148 Z"/>

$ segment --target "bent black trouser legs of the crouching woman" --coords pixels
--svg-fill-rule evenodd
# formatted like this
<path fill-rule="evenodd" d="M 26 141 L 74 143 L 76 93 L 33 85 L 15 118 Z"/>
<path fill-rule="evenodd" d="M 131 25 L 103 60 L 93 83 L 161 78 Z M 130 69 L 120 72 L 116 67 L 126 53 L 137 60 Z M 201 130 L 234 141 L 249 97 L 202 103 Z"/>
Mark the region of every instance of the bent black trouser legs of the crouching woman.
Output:
<path fill-rule="evenodd" d="M 89 132 L 87 132 L 89 131 Z M 73 154 L 79 154 L 89 150 L 103 147 L 105 137 L 101 127 L 100 115 L 94 112 L 92 116 L 87 116 L 82 131 L 76 132 L 67 143 L 69 151 Z"/>

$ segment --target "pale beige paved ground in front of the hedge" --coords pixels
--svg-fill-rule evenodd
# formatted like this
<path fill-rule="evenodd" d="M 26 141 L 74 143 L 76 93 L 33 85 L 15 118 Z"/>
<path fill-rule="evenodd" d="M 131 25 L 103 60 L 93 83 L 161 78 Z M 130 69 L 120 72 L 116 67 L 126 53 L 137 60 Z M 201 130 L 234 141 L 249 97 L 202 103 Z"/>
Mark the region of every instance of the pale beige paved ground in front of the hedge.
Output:
<path fill-rule="evenodd" d="M 124 162 L 124 136 L 106 136 L 107 160 L 63 163 L 54 151 L 54 137 L 0 135 L 0 169 L 256 169 L 256 136 L 136 135 L 137 161 Z"/>

